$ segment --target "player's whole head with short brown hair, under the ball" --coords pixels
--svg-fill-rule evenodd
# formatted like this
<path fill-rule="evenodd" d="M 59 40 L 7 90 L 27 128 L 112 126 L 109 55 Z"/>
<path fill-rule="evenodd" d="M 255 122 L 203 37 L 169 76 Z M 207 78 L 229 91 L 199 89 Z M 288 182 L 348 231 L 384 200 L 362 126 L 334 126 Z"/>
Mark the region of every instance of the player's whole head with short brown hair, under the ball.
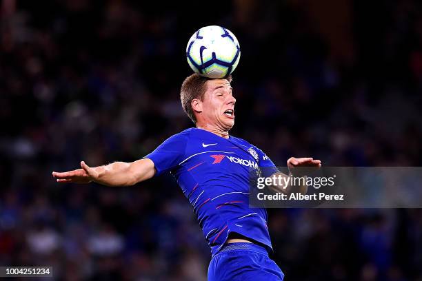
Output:
<path fill-rule="evenodd" d="M 234 125 L 234 103 L 230 82 L 208 79 L 198 74 L 188 76 L 182 83 L 180 98 L 183 110 L 195 125 L 212 125 L 228 131 Z M 229 114 L 227 111 L 232 110 Z"/>

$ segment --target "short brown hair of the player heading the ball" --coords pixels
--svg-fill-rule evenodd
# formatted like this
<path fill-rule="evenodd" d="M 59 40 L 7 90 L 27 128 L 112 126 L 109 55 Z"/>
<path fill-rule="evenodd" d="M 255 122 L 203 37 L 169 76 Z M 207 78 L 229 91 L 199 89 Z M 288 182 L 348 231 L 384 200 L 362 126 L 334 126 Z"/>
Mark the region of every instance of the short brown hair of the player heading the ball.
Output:
<path fill-rule="evenodd" d="M 232 76 L 229 75 L 225 78 L 229 83 L 232 82 Z M 205 83 L 210 80 L 210 78 L 200 76 L 197 73 L 194 73 L 188 76 L 185 81 L 183 81 L 181 90 L 180 90 L 180 100 L 182 103 L 183 110 L 188 114 L 190 120 L 193 123 L 197 123 L 197 118 L 194 115 L 192 110 L 192 100 L 194 98 L 199 98 L 202 101 L 203 94 L 205 94 Z"/>

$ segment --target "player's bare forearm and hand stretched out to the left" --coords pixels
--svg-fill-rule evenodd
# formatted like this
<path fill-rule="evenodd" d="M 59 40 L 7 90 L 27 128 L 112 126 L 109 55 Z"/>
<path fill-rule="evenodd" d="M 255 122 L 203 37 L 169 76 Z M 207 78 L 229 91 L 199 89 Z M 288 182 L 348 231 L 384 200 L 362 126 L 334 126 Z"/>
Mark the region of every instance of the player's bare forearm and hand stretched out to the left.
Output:
<path fill-rule="evenodd" d="M 53 171 L 52 176 L 58 183 L 99 183 L 108 186 L 130 186 L 152 178 L 155 174 L 154 163 L 148 158 L 132 163 L 114 162 L 99 167 L 89 167 L 81 161 L 81 169 L 73 171 Z"/>

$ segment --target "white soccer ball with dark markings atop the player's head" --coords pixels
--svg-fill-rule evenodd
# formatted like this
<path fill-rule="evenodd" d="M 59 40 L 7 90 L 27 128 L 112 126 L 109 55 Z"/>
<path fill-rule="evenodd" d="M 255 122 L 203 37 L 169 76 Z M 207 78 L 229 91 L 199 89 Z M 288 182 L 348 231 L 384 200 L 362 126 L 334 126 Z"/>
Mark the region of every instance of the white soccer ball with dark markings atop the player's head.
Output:
<path fill-rule="evenodd" d="M 229 76 L 240 59 L 234 34 L 218 25 L 205 26 L 190 37 L 186 56 L 192 70 L 212 79 Z"/>

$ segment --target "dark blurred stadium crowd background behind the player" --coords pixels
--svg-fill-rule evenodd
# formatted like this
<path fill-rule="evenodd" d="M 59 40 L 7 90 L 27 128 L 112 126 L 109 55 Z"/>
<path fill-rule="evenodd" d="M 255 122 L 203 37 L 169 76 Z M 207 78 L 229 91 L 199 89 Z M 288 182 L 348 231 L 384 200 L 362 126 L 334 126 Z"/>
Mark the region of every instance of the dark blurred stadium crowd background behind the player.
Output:
<path fill-rule="evenodd" d="M 0 264 L 61 280 L 205 280 L 210 250 L 170 176 L 59 185 L 191 127 L 185 45 L 241 44 L 232 134 L 277 165 L 421 166 L 422 7 L 403 1 L 1 1 Z M 422 280 L 420 209 L 271 209 L 286 280 Z"/>

